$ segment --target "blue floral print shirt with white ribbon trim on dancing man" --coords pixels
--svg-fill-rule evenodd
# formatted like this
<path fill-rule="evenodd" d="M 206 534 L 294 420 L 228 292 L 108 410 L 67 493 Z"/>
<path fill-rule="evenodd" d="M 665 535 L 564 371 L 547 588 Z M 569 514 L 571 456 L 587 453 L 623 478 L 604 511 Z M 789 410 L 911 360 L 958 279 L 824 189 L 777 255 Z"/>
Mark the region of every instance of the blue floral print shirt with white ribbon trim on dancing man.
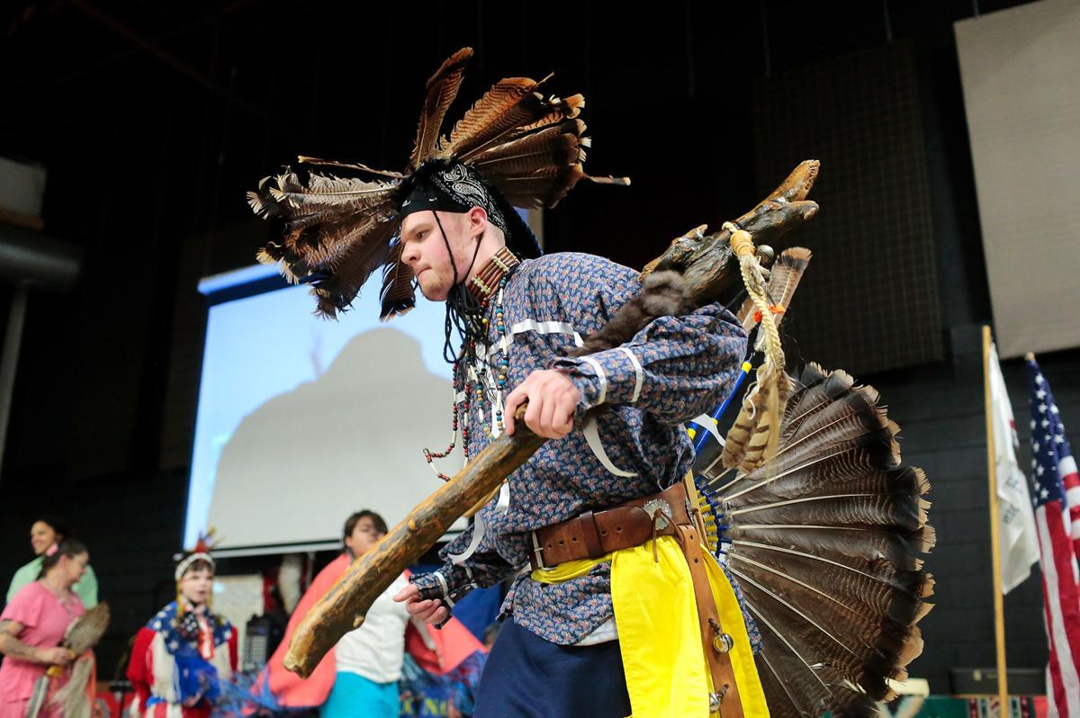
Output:
<path fill-rule="evenodd" d="M 501 302 L 503 334 L 496 322 L 499 302 L 488 308 L 486 361 L 498 376 L 509 360 L 508 394 L 536 369 L 566 371 L 581 392 L 575 428 L 546 442 L 509 477 L 509 504 L 504 487 L 501 502 L 497 498 L 481 510 L 483 536 L 462 565 L 449 556 L 465 552 L 476 525 L 443 550 L 440 571 L 415 575 L 414 583 L 460 597 L 473 585 L 494 585 L 517 573 L 503 613 L 555 644 L 576 644 L 612 618 L 610 564 L 565 583 L 538 583 L 527 570 L 529 531 L 680 480 L 693 459 L 683 422 L 716 408 L 731 391 L 746 351 L 742 327 L 715 303 L 686 316 L 659 317 L 622 347 L 564 356 L 639 288 L 634 270 L 577 253 L 525 260 L 510 275 Z M 598 450 L 583 431 L 590 421 Z M 491 441 L 490 402 L 473 401 L 462 423 L 469 426 L 469 456 L 476 456 Z"/>

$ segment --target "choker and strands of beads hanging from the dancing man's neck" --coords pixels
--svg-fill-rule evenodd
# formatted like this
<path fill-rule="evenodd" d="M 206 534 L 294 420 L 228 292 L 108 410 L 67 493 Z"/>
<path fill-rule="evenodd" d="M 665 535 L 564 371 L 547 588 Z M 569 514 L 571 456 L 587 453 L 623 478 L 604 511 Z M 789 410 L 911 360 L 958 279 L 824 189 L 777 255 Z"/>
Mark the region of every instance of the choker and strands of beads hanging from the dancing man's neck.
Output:
<path fill-rule="evenodd" d="M 481 422 L 485 404 L 494 407 L 494 420 L 491 437 L 495 438 L 504 431 L 502 421 L 502 392 L 507 385 L 507 375 L 510 371 L 510 340 L 507 334 L 505 314 L 502 308 L 502 295 L 507 287 L 510 274 L 517 268 L 521 260 L 507 247 L 502 247 L 488 259 L 487 263 L 476 272 L 465 286 L 467 290 L 480 300 L 480 316 L 484 327 L 487 328 L 490 321 L 487 317 L 491 299 L 495 298 L 495 328 L 501 341 L 482 347 L 482 354 L 477 354 L 475 341 L 470 346 L 469 352 L 461 352 L 461 358 L 454 362 L 454 402 L 450 407 L 450 443 L 444 451 L 432 451 L 424 447 L 423 458 L 444 482 L 451 477 L 438 471 L 435 466 L 435 459 L 444 459 L 450 455 L 457 446 L 458 429 L 461 429 L 461 445 L 465 452 L 465 461 L 469 461 L 469 411 L 473 408 L 473 399 L 477 408 Z M 496 364 L 498 374 L 491 371 L 491 357 L 501 352 Z M 494 378 L 492 378 L 494 377 Z M 458 396 L 461 396 L 460 408 Z"/>

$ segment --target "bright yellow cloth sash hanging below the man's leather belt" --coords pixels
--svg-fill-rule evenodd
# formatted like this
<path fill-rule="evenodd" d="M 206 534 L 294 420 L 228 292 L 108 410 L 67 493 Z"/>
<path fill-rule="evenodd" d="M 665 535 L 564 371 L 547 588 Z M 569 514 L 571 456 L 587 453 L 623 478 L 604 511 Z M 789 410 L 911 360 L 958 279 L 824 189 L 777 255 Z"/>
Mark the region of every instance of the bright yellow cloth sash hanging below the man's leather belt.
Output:
<path fill-rule="evenodd" d="M 768 718 L 761 681 L 734 591 L 712 554 L 704 552 L 708 582 L 720 623 L 734 640 L 731 666 L 745 718 Z M 636 718 L 688 718 L 708 714 L 712 675 L 705 663 L 693 598 L 693 580 L 674 537 L 623 548 L 596 559 L 582 558 L 554 569 L 532 571 L 540 583 L 582 577 L 597 564 L 611 561 L 611 604 L 619 632 L 626 690 Z"/>

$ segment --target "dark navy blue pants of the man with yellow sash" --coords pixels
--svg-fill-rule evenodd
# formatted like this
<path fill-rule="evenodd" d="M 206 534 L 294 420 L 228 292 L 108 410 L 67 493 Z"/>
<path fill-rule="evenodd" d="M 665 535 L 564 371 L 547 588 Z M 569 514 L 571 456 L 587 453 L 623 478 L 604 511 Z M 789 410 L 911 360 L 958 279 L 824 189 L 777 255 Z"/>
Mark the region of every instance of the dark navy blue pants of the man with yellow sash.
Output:
<path fill-rule="evenodd" d="M 625 718 L 619 641 L 559 646 L 508 619 L 476 691 L 475 718 Z"/>

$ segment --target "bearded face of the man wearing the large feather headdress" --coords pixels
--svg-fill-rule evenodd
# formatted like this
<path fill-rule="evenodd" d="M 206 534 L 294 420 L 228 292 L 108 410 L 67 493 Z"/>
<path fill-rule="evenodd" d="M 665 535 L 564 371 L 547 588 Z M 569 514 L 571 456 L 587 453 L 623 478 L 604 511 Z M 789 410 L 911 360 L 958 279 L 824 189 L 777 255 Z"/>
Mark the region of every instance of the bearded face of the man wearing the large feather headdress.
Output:
<path fill-rule="evenodd" d="M 431 301 L 446 301 L 450 288 L 464 279 L 454 276 L 447 243 L 461 272 L 467 271 L 472 248 L 470 248 L 468 213 L 440 212 L 438 220 L 435 221 L 433 212 L 417 212 L 402 222 L 402 242 L 405 243 L 402 261 L 413 268 L 420 292 Z M 438 229 L 440 222 L 446 230 L 446 242 Z"/>

